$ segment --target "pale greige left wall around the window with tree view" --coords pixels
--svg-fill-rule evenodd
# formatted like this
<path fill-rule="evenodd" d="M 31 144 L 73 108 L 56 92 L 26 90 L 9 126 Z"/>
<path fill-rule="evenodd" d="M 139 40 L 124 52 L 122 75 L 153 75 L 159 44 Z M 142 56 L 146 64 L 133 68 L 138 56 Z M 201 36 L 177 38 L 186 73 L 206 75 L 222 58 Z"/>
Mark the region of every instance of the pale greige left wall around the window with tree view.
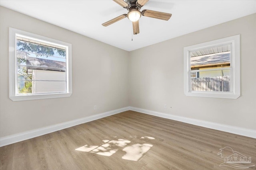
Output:
<path fill-rule="evenodd" d="M 20 102 L 9 99 L 9 27 L 72 44 L 72 96 Z M 0 37 L 0 137 L 129 106 L 127 51 L 2 6 Z"/>

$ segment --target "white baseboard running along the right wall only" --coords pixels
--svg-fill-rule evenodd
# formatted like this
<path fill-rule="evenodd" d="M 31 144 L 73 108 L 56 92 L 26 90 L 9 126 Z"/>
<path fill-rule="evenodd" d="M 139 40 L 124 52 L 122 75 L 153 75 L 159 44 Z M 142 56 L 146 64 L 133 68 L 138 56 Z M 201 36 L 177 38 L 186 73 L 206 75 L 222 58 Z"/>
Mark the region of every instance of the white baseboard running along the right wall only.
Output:
<path fill-rule="evenodd" d="M 210 122 L 210 121 L 202 121 L 202 120 L 198 120 L 198 119 L 191 119 L 191 118 L 187 118 L 187 117 L 170 115 L 170 114 L 166 114 L 166 113 L 150 111 L 150 110 L 141 109 L 141 108 L 137 108 L 137 107 L 130 107 L 130 110 L 138 111 L 140 113 L 145 113 L 148 115 L 153 115 L 153 116 L 162 117 L 162 118 L 166 118 L 166 119 L 181 121 L 181 122 L 189 123 L 192 125 L 207 127 L 210 129 L 215 129 L 215 130 L 224 131 L 224 132 L 228 132 L 228 133 L 234 133 L 236 135 L 252 137 L 252 138 L 256 139 L 256 131 L 253 129 L 246 129 L 246 128 L 241 128 L 241 127 L 236 127 L 236 126 L 214 123 L 214 122 Z"/>

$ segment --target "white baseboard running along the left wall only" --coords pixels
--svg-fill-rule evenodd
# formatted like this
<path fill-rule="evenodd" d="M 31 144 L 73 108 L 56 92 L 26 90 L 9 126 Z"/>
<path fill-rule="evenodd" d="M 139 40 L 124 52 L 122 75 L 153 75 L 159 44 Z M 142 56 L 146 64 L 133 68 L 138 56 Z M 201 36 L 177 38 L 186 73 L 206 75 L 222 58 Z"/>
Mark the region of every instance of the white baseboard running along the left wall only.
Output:
<path fill-rule="evenodd" d="M 59 124 L 48 126 L 48 127 L 42 127 L 42 128 L 34 129 L 34 130 L 31 130 L 31 131 L 18 133 L 18 134 L 15 134 L 15 135 L 2 137 L 2 138 L 0 138 L 0 147 L 5 146 L 5 145 L 10 145 L 12 143 L 24 141 L 24 140 L 27 140 L 27 139 L 31 139 L 31 138 L 34 138 L 34 137 L 38 137 L 38 136 L 41 136 L 41 135 L 45 135 L 45 134 L 48 134 L 48 133 L 52 133 L 52 132 L 55 132 L 55 131 L 59 131 L 59 130 L 62 130 L 62 129 L 66 129 L 68 127 L 80 125 L 82 123 L 86 123 L 86 122 L 89 122 L 89 121 L 94 121 L 96 119 L 100 119 L 100 118 L 103 118 L 103 117 L 107 117 L 107 116 L 110 116 L 110 115 L 121 113 L 121 112 L 127 111 L 129 109 L 130 109 L 130 107 L 123 107 L 121 109 L 107 111 L 107 112 L 104 112 L 104 113 L 83 117 L 81 119 L 75 119 L 75 120 L 72 120 L 72 121 L 67 121 L 67 122 L 64 122 L 64 123 L 59 123 Z"/>

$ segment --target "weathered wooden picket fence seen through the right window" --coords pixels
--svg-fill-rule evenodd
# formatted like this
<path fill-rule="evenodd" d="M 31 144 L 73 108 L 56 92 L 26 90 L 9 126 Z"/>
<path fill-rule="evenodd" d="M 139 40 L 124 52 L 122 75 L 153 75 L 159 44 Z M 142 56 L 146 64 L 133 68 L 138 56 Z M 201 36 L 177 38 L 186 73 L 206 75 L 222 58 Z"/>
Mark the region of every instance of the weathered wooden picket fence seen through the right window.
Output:
<path fill-rule="evenodd" d="M 230 77 L 191 78 L 191 91 L 230 92 Z"/>

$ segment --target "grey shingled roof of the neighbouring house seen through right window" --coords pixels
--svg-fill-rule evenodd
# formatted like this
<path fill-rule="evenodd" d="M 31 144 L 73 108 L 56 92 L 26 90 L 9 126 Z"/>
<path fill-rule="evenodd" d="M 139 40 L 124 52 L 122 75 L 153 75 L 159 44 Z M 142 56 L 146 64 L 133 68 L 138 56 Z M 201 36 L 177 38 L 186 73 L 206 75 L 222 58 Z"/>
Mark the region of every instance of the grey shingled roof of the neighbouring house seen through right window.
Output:
<path fill-rule="evenodd" d="M 191 57 L 191 65 L 204 65 L 213 63 L 230 63 L 230 51 L 209 55 Z"/>

